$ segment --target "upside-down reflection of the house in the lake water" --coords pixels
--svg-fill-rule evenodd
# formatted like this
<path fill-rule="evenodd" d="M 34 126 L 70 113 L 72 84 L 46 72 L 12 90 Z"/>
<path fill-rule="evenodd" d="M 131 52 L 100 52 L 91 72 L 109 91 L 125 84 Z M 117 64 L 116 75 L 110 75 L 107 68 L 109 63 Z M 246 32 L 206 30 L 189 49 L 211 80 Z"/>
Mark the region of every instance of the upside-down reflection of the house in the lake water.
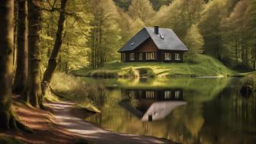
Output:
<path fill-rule="evenodd" d="M 136 107 L 128 102 L 122 102 L 120 105 L 142 121 L 162 120 L 171 110 L 187 104 L 183 99 L 182 89 L 122 89 L 122 96 L 138 101 Z"/>

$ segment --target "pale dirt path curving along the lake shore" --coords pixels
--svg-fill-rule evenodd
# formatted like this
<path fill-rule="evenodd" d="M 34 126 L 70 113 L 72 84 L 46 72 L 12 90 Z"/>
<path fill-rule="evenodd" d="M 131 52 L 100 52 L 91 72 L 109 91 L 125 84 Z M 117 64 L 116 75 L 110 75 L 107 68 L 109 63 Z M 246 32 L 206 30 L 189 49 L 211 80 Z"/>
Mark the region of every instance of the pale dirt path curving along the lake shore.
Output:
<path fill-rule="evenodd" d="M 168 140 L 158 139 L 152 136 L 137 136 L 104 130 L 93 123 L 88 123 L 85 120 L 74 117 L 71 112 L 74 104 L 70 102 L 48 102 L 45 105 L 53 112 L 59 126 L 77 136 L 91 140 L 97 144 L 171 143 Z"/>

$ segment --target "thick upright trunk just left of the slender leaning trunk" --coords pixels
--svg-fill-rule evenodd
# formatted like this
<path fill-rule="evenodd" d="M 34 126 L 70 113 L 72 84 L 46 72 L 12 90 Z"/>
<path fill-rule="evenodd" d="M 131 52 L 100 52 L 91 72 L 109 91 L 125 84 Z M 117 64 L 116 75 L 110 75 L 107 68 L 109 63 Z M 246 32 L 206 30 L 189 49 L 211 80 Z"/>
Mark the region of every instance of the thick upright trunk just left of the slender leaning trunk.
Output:
<path fill-rule="evenodd" d="M 42 0 L 28 0 L 28 79 L 24 92 L 27 103 L 34 107 L 42 104 L 42 91 L 40 81 L 40 30 L 42 28 L 42 14 L 40 5 Z"/>

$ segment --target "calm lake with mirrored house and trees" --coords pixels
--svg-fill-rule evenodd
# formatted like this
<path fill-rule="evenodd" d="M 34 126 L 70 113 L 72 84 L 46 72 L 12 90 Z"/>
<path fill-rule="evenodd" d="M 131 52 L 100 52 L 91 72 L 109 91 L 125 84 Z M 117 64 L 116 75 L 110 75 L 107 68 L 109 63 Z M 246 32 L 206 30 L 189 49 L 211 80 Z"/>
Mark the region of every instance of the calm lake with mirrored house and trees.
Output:
<path fill-rule="evenodd" d="M 120 133 L 182 143 L 256 143 L 256 97 L 239 78 L 94 79 L 107 87 L 87 120 Z"/>

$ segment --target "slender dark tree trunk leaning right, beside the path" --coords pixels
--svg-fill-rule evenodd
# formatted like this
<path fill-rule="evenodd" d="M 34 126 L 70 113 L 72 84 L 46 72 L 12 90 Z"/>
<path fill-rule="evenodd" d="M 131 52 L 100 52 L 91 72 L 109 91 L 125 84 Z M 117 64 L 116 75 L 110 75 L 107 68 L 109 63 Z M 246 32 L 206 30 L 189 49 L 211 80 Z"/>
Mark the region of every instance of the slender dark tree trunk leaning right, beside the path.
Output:
<path fill-rule="evenodd" d="M 48 66 L 46 68 L 46 71 L 43 74 L 43 94 L 46 91 L 47 85 L 50 84 L 50 81 L 53 77 L 53 73 L 56 70 L 56 66 L 58 64 L 58 54 L 59 50 L 62 46 L 62 40 L 64 37 L 64 30 L 65 30 L 65 21 L 66 21 L 66 4 L 68 0 L 62 0 L 61 1 L 61 8 L 59 11 L 59 24 L 58 24 L 58 30 L 56 33 L 56 40 L 53 46 L 53 52 L 50 56 Z"/>

